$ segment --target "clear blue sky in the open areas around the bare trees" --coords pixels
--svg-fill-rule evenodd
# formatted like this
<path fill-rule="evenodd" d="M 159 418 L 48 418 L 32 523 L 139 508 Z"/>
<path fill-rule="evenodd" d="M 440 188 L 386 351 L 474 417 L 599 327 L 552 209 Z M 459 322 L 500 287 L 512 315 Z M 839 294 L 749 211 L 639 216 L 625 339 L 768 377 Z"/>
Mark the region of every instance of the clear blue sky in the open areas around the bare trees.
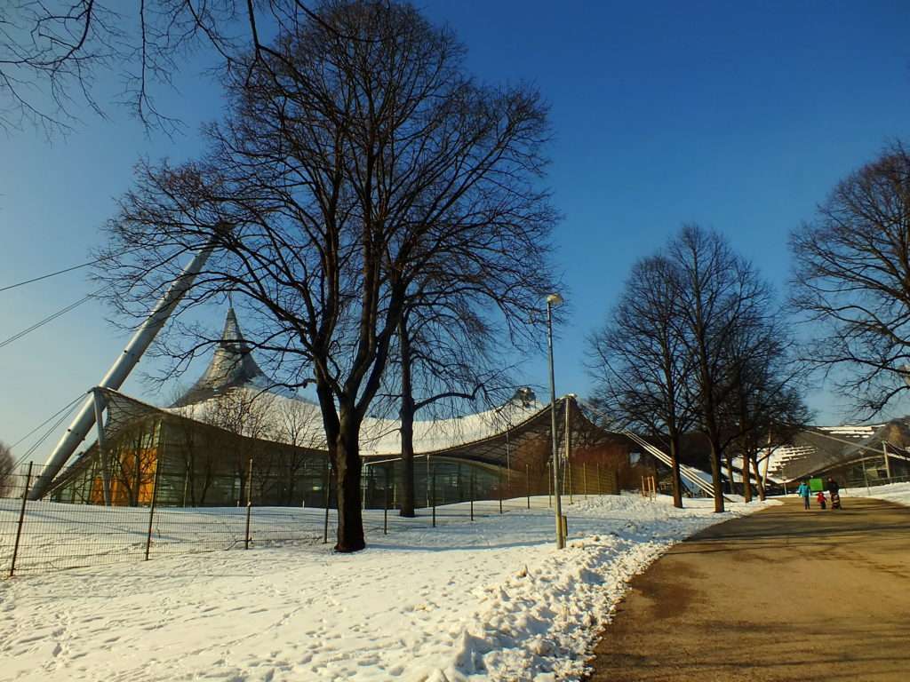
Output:
<path fill-rule="evenodd" d="M 551 102 L 557 257 L 573 307 L 556 349 L 559 393 L 589 392 L 584 336 L 632 262 L 682 222 L 722 231 L 783 290 L 789 230 L 886 140 L 910 138 L 910 5 L 899 0 L 420 6 L 456 30 L 480 79 L 528 81 Z M 116 75 L 100 80 L 113 96 Z M 116 109 L 108 121 L 86 112 L 53 144 L 32 130 L 0 138 L 0 286 L 85 259 L 140 155 L 197 153 L 197 125 L 219 115 L 220 93 L 197 65 L 177 86 L 160 101 L 187 122 L 173 140 Z M 90 290 L 74 273 L 0 294 L 0 337 Z M 124 341 L 92 305 L 0 349 L 0 439 L 95 385 Z M 529 383 L 545 377 L 542 360 L 529 363 Z M 126 390 L 164 399 L 137 377 Z M 840 419 L 836 396 L 810 402 L 820 420 Z"/>

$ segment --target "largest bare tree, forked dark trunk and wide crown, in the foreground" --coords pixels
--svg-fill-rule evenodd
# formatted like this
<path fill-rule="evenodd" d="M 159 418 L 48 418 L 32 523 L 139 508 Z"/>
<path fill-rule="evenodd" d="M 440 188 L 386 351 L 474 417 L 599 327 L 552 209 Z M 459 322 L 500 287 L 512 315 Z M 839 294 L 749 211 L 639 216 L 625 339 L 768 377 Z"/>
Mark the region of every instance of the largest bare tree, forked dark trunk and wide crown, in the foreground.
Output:
<path fill-rule="evenodd" d="M 175 254 L 215 247 L 182 309 L 246 299 L 250 346 L 289 386 L 313 377 L 336 547 L 356 551 L 359 429 L 411 286 L 447 256 L 482 272 L 549 243 L 546 108 L 526 87 L 474 84 L 450 31 L 409 5 L 329 3 L 293 28 L 227 75 L 231 113 L 207 128 L 204 160 L 139 167 L 104 277 L 135 314 L 178 276 Z"/>

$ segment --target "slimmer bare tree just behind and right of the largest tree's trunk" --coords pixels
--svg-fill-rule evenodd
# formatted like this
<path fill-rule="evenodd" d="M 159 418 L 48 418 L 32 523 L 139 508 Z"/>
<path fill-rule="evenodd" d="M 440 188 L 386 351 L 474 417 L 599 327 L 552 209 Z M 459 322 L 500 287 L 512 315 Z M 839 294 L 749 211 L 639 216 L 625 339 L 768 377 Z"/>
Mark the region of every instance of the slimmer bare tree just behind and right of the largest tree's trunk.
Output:
<path fill-rule="evenodd" d="M 409 291 L 391 366 L 399 386 L 402 516 L 414 515 L 418 411 L 451 417 L 465 405 L 510 397 L 515 383 L 502 358 L 507 349 L 521 355 L 535 346 L 531 314 L 555 290 L 545 246 L 512 240 L 494 248 L 500 255 L 484 263 L 470 248 L 448 254 Z"/>

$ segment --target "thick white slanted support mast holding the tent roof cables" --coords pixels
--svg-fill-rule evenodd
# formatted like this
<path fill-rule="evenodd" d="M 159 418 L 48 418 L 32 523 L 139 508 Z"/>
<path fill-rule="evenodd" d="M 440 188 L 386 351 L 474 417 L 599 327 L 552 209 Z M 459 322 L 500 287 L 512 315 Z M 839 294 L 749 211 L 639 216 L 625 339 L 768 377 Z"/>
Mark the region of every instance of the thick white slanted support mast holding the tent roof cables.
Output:
<path fill-rule="evenodd" d="M 155 336 L 157 336 L 158 331 L 167 322 L 167 318 L 174 312 L 177 303 L 187 294 L 190 286 L 193 286 L 193 281 L 203 266 L 206 265 L 208 256 L 211 256 L 214 248 L 215 238 L 209 241 L 196 256 L 193 256 L 193 260 L 189 262 L 189 265 L 167 289 L 167 292 L 158 301 L 157 306 L 152 309 L 146 321 L 136 329 L 136 334 L 126 344 L 123 353 L 107 370 L 107 374 L 101 379 L 97 387 L 116 390 L 123 385 L 139 358 L 143 356 L 148 346 L 151 345 Z M 44 470 L 35 480 L 35 485 L 32 486 L 32 490 L 28 494 L 29 499 L 35 500 L 44 496 L 57 472 L 63 468 L 70 456 L 76 452 L 76 448 L 85 440 L 92 426 L 95 426 L 95 415 L 95 397 L 94 395 L 89 395 L 79 409 L 76 418 L 73 419 L 73 423 L 66 429 L 66 434 L 60 438 L 60 442 L 57 443 L 54 452 L 47 458 Z"/>

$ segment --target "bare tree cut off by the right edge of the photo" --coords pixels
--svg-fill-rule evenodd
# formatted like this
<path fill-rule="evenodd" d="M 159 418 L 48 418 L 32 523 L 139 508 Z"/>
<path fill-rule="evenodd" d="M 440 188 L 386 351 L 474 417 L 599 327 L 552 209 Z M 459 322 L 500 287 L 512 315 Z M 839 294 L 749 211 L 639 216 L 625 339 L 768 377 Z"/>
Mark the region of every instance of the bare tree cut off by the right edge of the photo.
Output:
<path fill-rule="evenodd" d="M 794 231 L 792 301 L 813 325 L 805 357 L 875 416 L 910 378 L 910 153 L 895 142 Z"/>

